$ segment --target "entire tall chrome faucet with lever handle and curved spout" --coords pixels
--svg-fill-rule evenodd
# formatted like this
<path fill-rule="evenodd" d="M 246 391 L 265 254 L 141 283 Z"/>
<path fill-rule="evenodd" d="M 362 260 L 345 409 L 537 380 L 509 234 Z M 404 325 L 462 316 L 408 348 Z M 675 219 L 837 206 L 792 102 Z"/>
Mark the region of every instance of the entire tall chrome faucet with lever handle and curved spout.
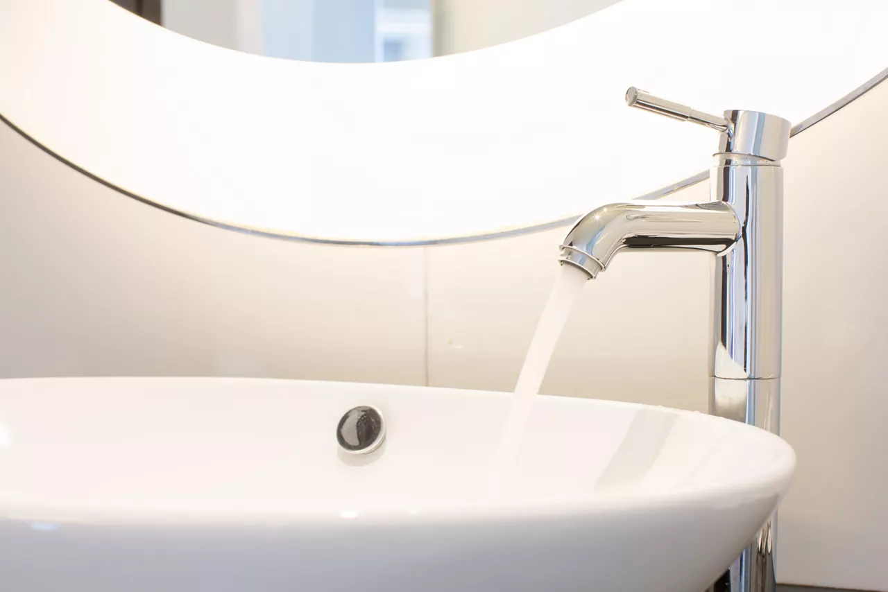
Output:
<path fill-rule="evenodd" d="M 630 88 L 626 103 L 720 132 L 710 201 L 614 203 L 580 218 L 559 262 L 594 279 L 622 249 L 715 254 L 710 414 L 780 428 L 783 170 L 787 120 L 756 111 L 711 115 Z M 772 518 L 725 574 L 718 592 L 773 592 Z"/>

